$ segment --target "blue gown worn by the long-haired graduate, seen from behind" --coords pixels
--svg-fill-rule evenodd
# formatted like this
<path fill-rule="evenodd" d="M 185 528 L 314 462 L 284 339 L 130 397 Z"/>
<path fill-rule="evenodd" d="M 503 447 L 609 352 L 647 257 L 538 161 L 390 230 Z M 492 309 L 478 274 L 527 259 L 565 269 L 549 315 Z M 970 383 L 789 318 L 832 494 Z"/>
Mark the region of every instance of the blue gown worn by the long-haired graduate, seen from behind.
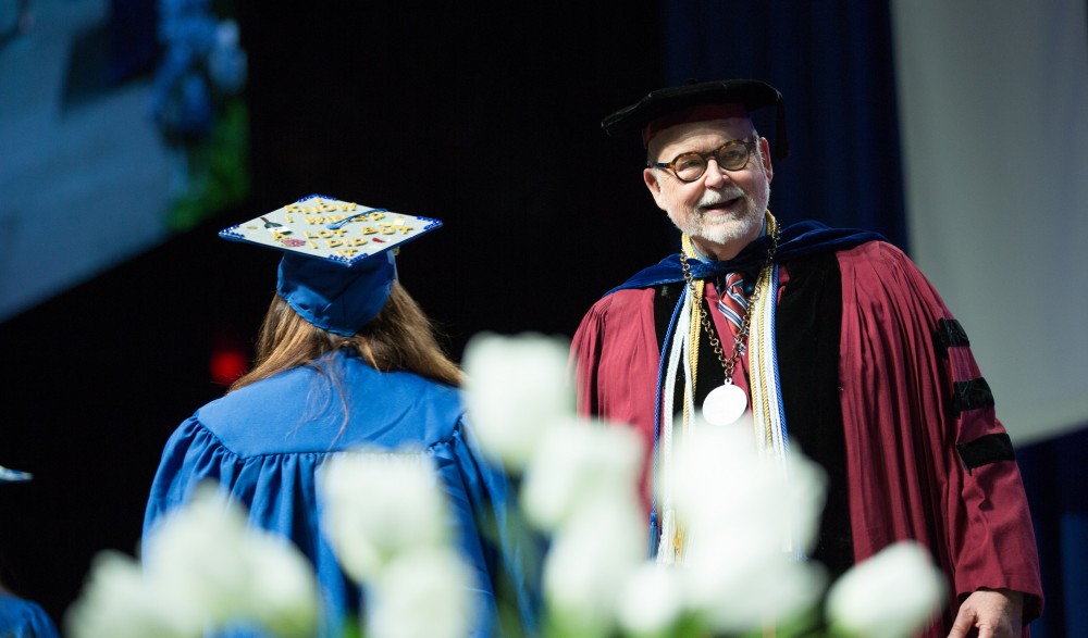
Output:
<path fill-rule="evenodd" d="M 512 584 L 511 604 L 531 628 L 533 603 L 522 587 L 524 572 L 512 561 L 528 553 L 517 547 L 506 521 L 512 488 L 469 436 L 458 390 L 411 373 L 378 372 L 344 353 L 320 363 L 337 385 L 313 366 L 296 367 L 212 401 L 182 423 L 163 451 L 144 537 L 202 479 L 219 481 L 249 508 L 251 526 L 292 539 L 310 559 L 322 589 L 321 635 L 336 636 L 359 612 L 360 592 L 322 529 L 319 467 L 360 447 L 422 448 L 435 462 L 454 538 L 480 586 L 480 622 L 472 635 L 493 635 L 500 583 L 504 591 Z M 490 516 L 497 538 L 481 528 Z"/>

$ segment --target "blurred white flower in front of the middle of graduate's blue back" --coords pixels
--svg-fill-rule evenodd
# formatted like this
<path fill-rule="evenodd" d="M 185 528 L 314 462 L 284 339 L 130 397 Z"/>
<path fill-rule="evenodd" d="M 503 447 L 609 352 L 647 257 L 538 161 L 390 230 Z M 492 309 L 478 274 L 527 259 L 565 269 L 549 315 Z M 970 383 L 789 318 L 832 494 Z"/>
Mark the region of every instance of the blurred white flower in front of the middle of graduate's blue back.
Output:
<path fill-rule="evenodd" d="M 429 456 L 360 451 L 330 460 L 319 477 L 322 513 L 342 566 L 370 580 L 397 552 L 446 541 L 446 502 Z"/>

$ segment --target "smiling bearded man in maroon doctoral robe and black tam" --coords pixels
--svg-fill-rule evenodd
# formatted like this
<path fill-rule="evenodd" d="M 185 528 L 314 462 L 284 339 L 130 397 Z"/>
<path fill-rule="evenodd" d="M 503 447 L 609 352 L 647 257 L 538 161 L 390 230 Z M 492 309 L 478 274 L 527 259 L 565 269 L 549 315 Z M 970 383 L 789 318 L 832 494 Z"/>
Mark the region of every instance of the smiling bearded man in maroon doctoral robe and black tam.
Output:
<path fill-rule="evenodd" d="M 967 336 L 911 260 L 879 236 L 814 222 L 777 229 L 767 210 L 770 145 L 750 117 L 771 107 L 781 158 L 782 98 L 759 82 L 662 89 L 603 122 L 616 137 L 641 134 L 644 182 L 683 233 L 684 259 L 635 274 L 586 313 L 571 350 L 579 411 L 644 435 L 643 493 L 656 537 L 663 410 L 685 393 L 665 354 L 688 330 L 677 321 L 687 291 L 703 282 L 713 326 L 698 329 L 688 376 L 702 404 L 724 381 L 751 393 L 756 374 L 744 348 L 749 328 L 718 310 L 726 275 L 744 273 L 751 295 L 758 273 L 772 273 L 770 400 L 788 440 L 829 477 L 812 558 L 836 576 L 893 542 L 918 540 L 950 584 L 948 610 L 926 636 L 1026 636 L 1042 610 L 1035 535 L 1012 443 Z"/>

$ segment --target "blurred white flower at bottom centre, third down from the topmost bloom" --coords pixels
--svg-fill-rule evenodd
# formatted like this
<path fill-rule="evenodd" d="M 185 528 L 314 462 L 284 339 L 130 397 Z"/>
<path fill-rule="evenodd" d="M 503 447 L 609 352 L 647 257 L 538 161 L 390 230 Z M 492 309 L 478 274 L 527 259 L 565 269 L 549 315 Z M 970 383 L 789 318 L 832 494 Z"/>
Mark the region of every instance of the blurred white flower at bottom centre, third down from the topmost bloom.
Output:
<path fill-rule="evenodd" d="M 581 508 L 544 559 L 544 592 L 558 635 L 607 636 L 620 591 L 646 551 L 645 521 L 623 500 Z"/>

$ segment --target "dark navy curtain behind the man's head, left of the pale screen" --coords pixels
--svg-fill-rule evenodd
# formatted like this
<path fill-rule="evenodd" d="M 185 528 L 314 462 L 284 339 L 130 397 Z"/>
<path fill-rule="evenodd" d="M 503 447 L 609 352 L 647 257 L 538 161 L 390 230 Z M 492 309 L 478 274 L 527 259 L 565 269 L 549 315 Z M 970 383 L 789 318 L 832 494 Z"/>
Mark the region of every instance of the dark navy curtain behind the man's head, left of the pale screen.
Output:
<path fill-rule="evenodd" d="M 786 97 L 790 158 L 770 210 L 882 233 L 906 250 L 887 2 L 667 0 L 666 84 L 750 77 Z M 769 114 L 768 114 L 769 115 Z M 757 118 L 770 138 L 772 117 Z"/>

